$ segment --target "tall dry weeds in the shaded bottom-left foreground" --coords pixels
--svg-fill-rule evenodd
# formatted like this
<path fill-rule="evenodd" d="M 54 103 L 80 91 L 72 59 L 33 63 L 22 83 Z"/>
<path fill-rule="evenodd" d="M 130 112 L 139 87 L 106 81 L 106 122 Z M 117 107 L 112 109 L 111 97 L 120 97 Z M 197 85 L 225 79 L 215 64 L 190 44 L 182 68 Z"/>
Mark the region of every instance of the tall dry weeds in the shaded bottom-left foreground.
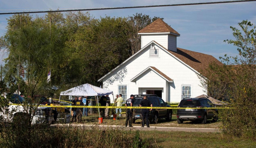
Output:
<path fill-rule="evenodd" d="M 100 129 L 98 126 L 5 126 L 2 129 L 0 147 L 7 148 L 150 148 L 157 147 L 155 140 L 142 138 L 138 130 Z"/>

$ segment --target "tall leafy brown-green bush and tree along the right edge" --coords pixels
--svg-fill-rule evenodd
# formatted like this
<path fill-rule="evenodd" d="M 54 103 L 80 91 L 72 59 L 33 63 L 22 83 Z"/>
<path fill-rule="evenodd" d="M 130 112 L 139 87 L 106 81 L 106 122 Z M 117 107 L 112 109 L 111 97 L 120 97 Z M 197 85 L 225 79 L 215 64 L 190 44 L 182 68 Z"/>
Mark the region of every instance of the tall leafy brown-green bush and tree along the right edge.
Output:
<path fill-rule="evenodd" d="M 235 108 L 220 111 L 224 133 L 255 139 L 256 26 L 247 20 L 238 25 L 240 29 L 230 27 L 235 40 L 225 42 L 236 46 L 239 56 L 221 57 L 224 65 L 211 65 L 204 82 L 208 90 L 214 89 L 210 92 L 226 97 L 230 106 Z"/>

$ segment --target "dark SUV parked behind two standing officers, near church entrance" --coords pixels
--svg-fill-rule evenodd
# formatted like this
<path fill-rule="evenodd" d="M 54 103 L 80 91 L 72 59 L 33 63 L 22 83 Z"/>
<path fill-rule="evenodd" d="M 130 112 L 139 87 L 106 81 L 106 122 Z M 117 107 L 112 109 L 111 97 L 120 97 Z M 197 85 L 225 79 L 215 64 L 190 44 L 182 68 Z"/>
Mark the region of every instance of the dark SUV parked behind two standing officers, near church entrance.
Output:
<path fill-rule="evenodd" d="M 134 95 L 133 106 L 139 106 L 145 95 Z M 157 95 L 146 95 L 147 99 L 152 103 L 153 107 L 171 107 L 164 100 Z M 141 109 L 134 109 L 133 121 L 141 119 Z M 149 121 L 157 123 L 159 118 L 165 118 L 167 121 L 172 120 L 172 109 L 153 109 L 149 113 Z"/>

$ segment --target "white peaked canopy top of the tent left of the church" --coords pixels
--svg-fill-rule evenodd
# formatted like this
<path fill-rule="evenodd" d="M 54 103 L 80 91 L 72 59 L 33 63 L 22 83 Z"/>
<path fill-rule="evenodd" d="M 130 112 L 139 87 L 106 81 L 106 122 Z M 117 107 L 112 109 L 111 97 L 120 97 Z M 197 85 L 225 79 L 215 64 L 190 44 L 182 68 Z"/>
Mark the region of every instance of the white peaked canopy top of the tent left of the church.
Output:
<path fill-rule="evenodd" d="M 105 90 L 91 84 L 83 84 L 60 92 L 61 96 L 103 96 L 112 94 L 113 91 Z"/>

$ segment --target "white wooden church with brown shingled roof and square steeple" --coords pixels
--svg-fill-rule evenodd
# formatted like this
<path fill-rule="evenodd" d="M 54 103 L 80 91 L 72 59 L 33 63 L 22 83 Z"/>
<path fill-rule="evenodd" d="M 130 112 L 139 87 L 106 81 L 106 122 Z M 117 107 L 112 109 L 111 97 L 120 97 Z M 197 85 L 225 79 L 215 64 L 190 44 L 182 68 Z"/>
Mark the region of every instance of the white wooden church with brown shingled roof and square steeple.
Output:
<path fill-rule="evenodd" d="M 98 81 L 103 88 L 122 94 L 156 94 L 166 102 L 205 94 L 198 74 L 211 62 L 211 55 L 177 48 L 180 34 L 157 19 L 138 32 L 141 49 Z"/>

